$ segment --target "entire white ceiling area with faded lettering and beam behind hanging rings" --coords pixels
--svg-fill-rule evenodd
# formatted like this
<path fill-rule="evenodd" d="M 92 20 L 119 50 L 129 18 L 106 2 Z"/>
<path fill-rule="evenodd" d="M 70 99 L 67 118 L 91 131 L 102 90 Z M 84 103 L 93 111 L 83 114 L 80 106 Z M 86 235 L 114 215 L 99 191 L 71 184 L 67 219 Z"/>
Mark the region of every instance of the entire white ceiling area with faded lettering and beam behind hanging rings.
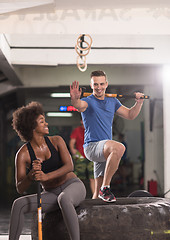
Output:
<path fill-rule="evenodd" d="M 0 9 L 0 48 L 14 72 L 76 65 L 81 33 L 93 39 L 89 65 L 170 62 L 169 0 L 7 0 Z"/>

